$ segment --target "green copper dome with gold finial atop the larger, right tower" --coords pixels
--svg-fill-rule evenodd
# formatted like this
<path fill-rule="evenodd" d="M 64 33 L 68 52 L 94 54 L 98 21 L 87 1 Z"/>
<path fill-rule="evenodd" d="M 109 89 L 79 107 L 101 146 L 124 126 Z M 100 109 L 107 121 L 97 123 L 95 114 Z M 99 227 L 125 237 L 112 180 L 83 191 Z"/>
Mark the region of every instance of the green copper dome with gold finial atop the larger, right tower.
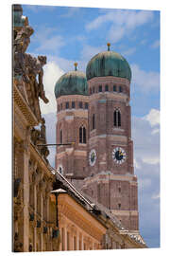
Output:
<path fill-rule="evenodd" d="M 108 43 L 108 51 L 96 54 L 88 63 L 86 68 L 87 80 L 94 77 L 119 77 L 131 80 L 131 69 L 127 60 L 115 51 L 110 51 L 110 43 Z"/>

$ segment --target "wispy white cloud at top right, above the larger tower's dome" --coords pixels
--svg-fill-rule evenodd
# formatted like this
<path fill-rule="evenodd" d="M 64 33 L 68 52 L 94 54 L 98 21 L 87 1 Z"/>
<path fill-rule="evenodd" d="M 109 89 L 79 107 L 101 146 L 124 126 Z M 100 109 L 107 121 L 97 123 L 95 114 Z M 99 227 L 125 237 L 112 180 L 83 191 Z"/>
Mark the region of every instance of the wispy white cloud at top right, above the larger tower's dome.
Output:
<path fill-rule="evenodd" d="M 151 10 L 107 10 L 105 14 L 99 15 L 92 22 L 86 25 L 86 29 L 91 31 L 101 27 L 105 23 L 111 23 L 108 33 L 108 39 L 111 43 L 121 40 L 127 33 L 136 27 L 143 26 L 153 19 L 153 11 Z"/>

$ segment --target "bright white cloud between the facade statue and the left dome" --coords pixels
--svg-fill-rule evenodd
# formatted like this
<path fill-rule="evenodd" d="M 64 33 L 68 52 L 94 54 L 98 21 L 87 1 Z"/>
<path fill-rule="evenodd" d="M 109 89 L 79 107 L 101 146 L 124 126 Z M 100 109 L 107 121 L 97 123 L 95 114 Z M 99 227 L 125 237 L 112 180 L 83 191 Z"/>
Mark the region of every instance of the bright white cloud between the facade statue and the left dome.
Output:
<path fill-rule="evenodd" d="M 43 86 L 45 95 L 49 102 L 45 104 L 40 101 L 42 114 L 56 112 L 56 99 L 54 95 L 55 83 L 59 80 L 59 77 L 63 75 L 63 70 L 59 68 L 59 65 L 55 62 L 48 62 L 43 68 Z"/>

